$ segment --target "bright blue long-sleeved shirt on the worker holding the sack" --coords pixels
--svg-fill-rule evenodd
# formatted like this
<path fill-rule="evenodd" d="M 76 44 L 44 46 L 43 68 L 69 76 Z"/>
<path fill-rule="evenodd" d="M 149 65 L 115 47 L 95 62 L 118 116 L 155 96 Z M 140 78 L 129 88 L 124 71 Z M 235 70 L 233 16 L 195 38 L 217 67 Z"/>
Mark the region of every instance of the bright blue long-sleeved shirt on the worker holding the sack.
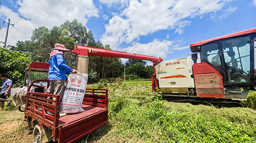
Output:
<path fill-rule="evenodd" d="M 73 69 L 66 65 L 65 59 L 61 54 L 55 54 L 49 60 L 49 80 L 66 80 L 66 74 L 69 74 Z"/>

